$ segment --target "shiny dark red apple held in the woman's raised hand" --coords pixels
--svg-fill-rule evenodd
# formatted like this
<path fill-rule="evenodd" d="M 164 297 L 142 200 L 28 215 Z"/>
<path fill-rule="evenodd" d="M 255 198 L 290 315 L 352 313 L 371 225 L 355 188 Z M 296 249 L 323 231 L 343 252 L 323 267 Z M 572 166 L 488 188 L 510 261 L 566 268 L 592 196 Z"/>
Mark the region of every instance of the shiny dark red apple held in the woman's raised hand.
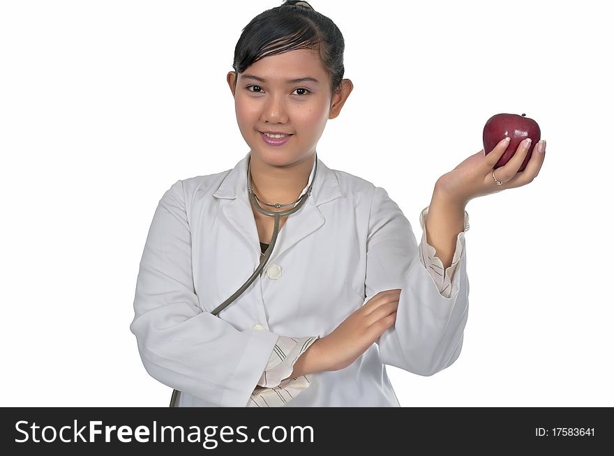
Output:
<path fill-rule="evenodd" d="M 482 142 L 484 143 L 484 154 L 488 155 L 491 153 L 495 146 L 501 142 L 502 139 L 505 139 L 506 136 L 509 136 L 509 144 L 507 149 L 493 169 L 497 169 L 502 167 L 509 159 L 514 156 L 516 153 L 516 149 L 518 149 L 518 145 L 521 144 L 525 139 L 531 138 L 531 147 L 525 161 L 518 169 L 518 172 L 524 171 L 529 159 L 531 158 L 531 154 L 533 153 L 533 148 L 541 139 L 541 130 L 539 129 L 539 125 L 533 119 L 529 119 L 525 117 L 526 114 L 519 116 L 518 114 L 495 114 L 488 119 L 486 125 L 484 126 L 484 132 L 482 133 Z"/>

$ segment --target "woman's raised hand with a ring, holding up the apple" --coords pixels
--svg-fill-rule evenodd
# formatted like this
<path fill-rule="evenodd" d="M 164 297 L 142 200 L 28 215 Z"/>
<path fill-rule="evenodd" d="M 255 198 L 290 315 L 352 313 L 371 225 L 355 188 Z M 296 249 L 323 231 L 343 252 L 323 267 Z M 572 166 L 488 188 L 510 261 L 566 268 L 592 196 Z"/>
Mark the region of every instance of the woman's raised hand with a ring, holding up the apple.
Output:
<path fill-rule="evenodd" d="M 525 146 L 525 142 L 526 140 L 518 145 L 516 153 L 505 165 L 495 169 L 495 177 L 497 181 L 503 182 L 502 185 L 497 185 L 493 179 L 493 167 L 507 149 L 509 142 L 505 139 L 502 139 L 488 155 L 484 155 L 484 149 L 482 149 L 463 160 L 451 172 L 441 176 L 435 183 L 435 190 L 449 203 L 464 208 L 473 198 L 531 183 L 539 174 L 541 165 L 544 164 L 545 153 L 538 151 L 541 146 L 538 142 L 533 148 L 527 166 L 522 172 L 518 172 L 530 149 Z M 543 147 L 545 152 L 545 141 Z"/>

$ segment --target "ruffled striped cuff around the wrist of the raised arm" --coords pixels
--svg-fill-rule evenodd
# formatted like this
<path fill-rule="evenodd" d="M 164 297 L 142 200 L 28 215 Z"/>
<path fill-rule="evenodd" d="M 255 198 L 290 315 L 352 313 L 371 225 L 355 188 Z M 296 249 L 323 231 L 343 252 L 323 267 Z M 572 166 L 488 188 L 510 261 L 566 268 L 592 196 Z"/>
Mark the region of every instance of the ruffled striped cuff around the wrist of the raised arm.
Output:
<path fill-rule="evenodd" d="M 463 231 L 456 236 L 456 250 L 454 250 L 454 257 L 452 257 L 452 264 L 444 271 L 444 265 L 440 258 L 435 257 L 435 248 L 426 242 L 426 229 L 424 220 L 428 215 L 428 206 L 424 208 L 420 213 L 420 227 L 422 228 L 422 239 L 419 245 L 419 257 L 424 267 L 435 280 L 437 289 L 442 296 L 449 298 L 451 295 L 451 283 L 458 263 L 461 261 L 463 251 L 465 250 L 465 233 L 469 229 L 469 214 L 465 211 L 465 222 Z"/>

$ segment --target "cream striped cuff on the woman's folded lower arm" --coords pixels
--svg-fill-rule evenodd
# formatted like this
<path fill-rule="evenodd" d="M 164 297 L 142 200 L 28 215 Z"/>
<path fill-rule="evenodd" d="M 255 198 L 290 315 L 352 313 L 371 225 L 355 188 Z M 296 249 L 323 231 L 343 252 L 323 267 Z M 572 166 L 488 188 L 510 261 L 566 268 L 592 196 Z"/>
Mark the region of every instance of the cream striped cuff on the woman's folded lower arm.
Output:
<path fill-rule="evenodd" d="M 297 397 L 309 388 L 312 375 L 292 377 L 294 363 L 320 336 L 287 337 L 280 335 L 275 350 L 269 358 L 267 369 L 252 393 L 247 406 L 278 407 Z"/>

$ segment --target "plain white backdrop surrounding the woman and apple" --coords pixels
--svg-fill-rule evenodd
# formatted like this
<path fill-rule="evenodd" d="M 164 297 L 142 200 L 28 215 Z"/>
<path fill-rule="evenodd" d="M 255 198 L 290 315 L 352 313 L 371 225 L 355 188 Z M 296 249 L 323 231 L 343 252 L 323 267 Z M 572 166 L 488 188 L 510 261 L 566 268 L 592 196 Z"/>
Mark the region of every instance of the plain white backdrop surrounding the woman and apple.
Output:
<path fill-rule="evenodd" d="M 147 231 L 177 179 L 248 152 L 225 77 L 280 3 L 0 3 L 0 405 L 168 405 L 129 330 Z M 311 4 L 354 83 L 318 156 L 384 187 L 418 241 L 490 116 L 548 141 L 532 183 L 467 205 L 463 351 L 433 377 L 387 367 L 401 405 L 614 406 L 606 3 Z"/>

